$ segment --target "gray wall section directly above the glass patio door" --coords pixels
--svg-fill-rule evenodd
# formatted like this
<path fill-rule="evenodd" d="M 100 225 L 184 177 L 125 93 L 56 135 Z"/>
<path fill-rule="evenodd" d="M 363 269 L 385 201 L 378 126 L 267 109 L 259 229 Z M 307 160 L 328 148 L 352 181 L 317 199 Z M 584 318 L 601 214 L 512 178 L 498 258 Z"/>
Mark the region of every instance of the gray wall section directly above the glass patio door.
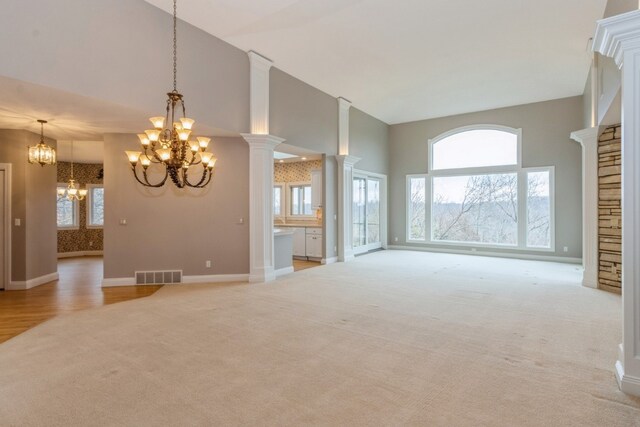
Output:
<path fill-rule="evenodd" d="M 389 125 L 351 108 L 349 110 L 349 154 L 360 157 L 356 169 L 389 174 Z"/>

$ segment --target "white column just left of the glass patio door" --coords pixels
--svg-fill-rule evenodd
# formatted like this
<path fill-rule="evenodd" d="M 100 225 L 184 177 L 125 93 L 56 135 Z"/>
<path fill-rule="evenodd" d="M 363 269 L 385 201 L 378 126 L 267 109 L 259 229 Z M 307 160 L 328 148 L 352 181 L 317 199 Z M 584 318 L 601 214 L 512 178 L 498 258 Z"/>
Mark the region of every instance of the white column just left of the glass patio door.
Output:
<path fill-rule="evenodd" d="M 338 261 L 353 259 L 353 165 L 360 158 L 336 156 L 338 162 Z"/>

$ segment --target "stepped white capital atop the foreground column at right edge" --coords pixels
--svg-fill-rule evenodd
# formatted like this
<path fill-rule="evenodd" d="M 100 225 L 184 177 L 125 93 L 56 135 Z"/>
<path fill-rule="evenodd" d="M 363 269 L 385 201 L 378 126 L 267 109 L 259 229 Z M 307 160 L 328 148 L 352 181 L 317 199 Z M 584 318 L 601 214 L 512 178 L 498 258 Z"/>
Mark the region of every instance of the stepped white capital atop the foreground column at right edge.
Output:
<path fill-rule="evenodd" d="M 593 50 L 614 59 L 622 68 L 624 50 L 640 49 L 640 10 L 623 13 L 596 23 Z"/>

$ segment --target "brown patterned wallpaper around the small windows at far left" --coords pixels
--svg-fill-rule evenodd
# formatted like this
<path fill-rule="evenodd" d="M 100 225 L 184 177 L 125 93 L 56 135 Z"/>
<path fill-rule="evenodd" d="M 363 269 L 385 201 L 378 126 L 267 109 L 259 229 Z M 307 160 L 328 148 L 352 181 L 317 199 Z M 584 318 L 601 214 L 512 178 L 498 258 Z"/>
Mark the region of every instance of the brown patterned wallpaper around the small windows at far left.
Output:
<path fill-rule="evenodd" d="M 71 176 L 71 163 L 58 162 L 58 182 L 68 182 Z M 102 184 L 100 171 L 101 164 L 73 164 L 73 177 L 76 184 L 84 188 L 86 184 Z M 80 252 L 80 251 L 101 251 L 102 229 L 87 228 L 87 200 L 81 200 L 78 207 L 80 213 L 80 228 L 78 230 L 58 230 L 58 253 Z M 90 245 L 90 243 L 92 243 Z"/>

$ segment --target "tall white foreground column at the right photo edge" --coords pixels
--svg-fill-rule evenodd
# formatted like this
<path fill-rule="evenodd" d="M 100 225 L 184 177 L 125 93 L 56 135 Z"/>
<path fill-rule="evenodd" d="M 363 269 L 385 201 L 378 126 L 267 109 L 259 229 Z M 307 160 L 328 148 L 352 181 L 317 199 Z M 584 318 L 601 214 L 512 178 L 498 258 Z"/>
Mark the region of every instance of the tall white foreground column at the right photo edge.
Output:
<path fill-rule="evenodd" d="M 640 396 L 640 11 L 598 21 L 593 49 L 622 69 L 622 344 L 616 377 Z"/>

